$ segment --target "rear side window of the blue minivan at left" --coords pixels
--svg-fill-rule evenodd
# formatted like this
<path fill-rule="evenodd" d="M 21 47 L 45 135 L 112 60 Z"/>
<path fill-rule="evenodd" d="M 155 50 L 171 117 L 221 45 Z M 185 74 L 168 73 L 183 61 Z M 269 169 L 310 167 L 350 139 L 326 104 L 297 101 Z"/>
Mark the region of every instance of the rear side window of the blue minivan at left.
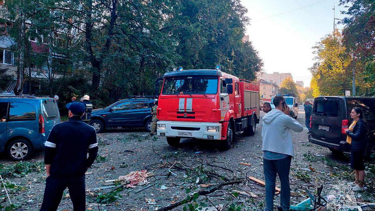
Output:
<path fill-rule="evenodd" d="M 12 102 L 9 109 L 9 121 L 35 120 L 35 107 L 24 102 Z"/>

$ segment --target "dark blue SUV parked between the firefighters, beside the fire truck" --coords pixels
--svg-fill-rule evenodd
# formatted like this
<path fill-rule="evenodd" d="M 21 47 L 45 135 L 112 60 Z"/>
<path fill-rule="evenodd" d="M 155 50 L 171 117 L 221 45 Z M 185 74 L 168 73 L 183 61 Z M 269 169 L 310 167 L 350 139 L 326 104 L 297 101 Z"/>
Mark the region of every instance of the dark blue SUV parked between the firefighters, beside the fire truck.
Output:
<path fill-rule="evenodd" d="M 102 133 L 107 127 L 145 127 L 151 129 L 151 107 L 157 96 L 133 96 L 121 99 L 105 109 L 94 109 L 90 125 L 96 133 Z"/>

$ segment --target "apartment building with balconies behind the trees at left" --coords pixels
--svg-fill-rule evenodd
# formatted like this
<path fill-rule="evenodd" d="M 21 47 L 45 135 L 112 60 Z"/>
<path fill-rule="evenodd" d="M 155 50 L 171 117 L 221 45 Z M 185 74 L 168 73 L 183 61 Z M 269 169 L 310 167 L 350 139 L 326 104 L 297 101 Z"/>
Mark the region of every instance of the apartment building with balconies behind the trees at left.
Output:
<path fill-rule="evenodd" d="M 24 57 L 17 56 L 15 49 L 16 41 L 8 34 L 8 31 L 13 27 L 13 20 L 6 18 L 7 10 L 4 6 L 5 0 L 0 0 L 0 68 L 6 69 L 7 74 L 11 75 L 14 80 L 9 81 L 9 85 L 6 89 L 0 90 L 1 94 L 11 94 L 14 93 L 13 89 L 15 86 L 20 86 L 17 84 L 17 70 L 22 69 L 23 66 L 20 65 Z M 26 27 L 29 29 L 31 23 L 26 21 Z M 31 79 L 27 79 L 23 85 L 22 94 L 35 94 L 38 89 L 40 89 L 41 80 L 50 80 L 53 78 L 61 77 L 61 72 L 59 67 L 62 64 L 69 63 L 66 61 L 66 57 L 62 52 L 57 50 L 52 50 L 52 46 L 63 47 L 64 42 L 67 37 L 73 38 L 75 36 L 74 30 L 60 31 L 51 34 L 45 34 L 43 32 L 31 33 L 32 36 L 28 38 L 30 42 L 31 51 L 33 55 L 48 55 L 44 63 L 30 62 L 30 65 L 22 70 L 24 74 L 21 75 L 21 80 L 23 75 L 29 75 L 31 73 Z M 56 49 L 56 48 L 54 48 Z M 21 54 L 20 54 L 21 55 Z M 73 64 L 72 64 L 73 65 Z M 30 70 L 30 71 L 29 71 Z M 28 87 L 31 87 L 31 93 L 29 93 Z"/>

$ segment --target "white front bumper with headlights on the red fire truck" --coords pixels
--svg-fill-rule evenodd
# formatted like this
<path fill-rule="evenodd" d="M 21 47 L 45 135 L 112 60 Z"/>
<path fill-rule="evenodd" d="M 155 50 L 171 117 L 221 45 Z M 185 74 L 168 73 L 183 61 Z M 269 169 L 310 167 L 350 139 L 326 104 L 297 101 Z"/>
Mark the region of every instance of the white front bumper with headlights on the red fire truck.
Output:
<path fill-rule="evenodd" d="M 221 139 L 221 124 L 216 122 L 158 121 L 157 134 L 166 137 Z"/>

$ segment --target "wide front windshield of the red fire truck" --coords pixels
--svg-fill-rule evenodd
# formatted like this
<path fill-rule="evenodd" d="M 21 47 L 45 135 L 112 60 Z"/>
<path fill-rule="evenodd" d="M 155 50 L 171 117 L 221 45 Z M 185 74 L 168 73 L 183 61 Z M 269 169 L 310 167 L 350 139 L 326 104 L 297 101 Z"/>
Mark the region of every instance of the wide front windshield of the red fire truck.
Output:
<path fill-rule="evenodd" d="M 215 76 L 179 76 L 165 78 L 163 95 L 175 94 L 216 94 L 217 80 Z"/>

